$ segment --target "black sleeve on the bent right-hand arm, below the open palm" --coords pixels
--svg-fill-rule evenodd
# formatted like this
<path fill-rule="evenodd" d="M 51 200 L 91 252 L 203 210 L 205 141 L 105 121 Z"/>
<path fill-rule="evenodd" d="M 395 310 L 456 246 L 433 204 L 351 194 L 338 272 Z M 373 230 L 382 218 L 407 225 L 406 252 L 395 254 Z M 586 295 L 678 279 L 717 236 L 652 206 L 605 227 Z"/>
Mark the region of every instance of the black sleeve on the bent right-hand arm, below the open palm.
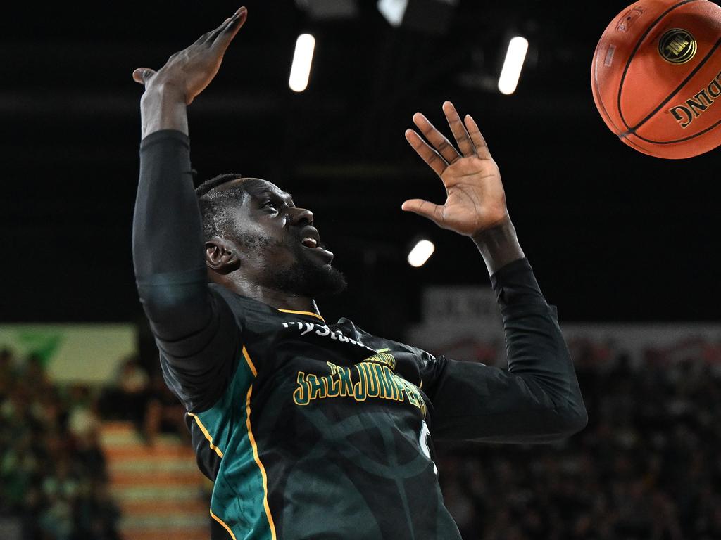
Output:
<path fill-rule="evenodd" d="M 583 398 L 554 307 L 524 258 L 493 274 L 508 370 L 439 358 L 429 394 L 438 438 L 541 442 L 580 430 Z"/>

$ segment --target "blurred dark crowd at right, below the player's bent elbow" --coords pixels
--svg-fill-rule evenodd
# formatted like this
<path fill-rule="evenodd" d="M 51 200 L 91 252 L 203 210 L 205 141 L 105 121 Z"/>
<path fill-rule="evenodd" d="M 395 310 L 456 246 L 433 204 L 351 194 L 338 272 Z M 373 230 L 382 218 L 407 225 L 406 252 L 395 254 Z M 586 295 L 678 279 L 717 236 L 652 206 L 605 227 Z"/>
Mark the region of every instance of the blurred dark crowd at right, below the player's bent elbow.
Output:
<path fill-rule="evenodd" d="M 552 445 L 437 444 L 464 539 L 721 539 L 721 364 L 698 345 L 632 361 L 612 343 L 572 343 L 583 432 Z"/>

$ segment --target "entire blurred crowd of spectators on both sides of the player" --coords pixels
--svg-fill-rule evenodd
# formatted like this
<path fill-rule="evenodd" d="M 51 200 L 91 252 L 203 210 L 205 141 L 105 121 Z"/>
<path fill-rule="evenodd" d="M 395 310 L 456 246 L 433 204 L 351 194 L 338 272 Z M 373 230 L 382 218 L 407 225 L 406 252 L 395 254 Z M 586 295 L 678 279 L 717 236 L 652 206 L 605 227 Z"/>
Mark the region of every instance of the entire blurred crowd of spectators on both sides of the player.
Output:
<path fill-rule="evenodd" d="M 446 505 L 466 540 L 721 540 L 721 347 L 689 341 L 630 358 L 570 343 L 588 427 L 550 445 L 437 443 Z M 499 343 L 484 360 L 503 356 Z M 117 540 L 100 418 L 146 444 L 187 438 L 162 377 L 126 359 L 97 393 L 0 352 L 0 518 L 35 540 Z"/>

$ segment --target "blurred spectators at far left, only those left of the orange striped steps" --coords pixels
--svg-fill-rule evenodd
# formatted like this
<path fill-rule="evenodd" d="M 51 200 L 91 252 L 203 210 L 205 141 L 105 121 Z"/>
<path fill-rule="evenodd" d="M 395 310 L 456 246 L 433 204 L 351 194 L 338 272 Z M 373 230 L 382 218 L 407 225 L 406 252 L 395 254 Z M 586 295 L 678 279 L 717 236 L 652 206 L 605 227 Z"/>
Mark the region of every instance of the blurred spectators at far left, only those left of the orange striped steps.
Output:
<path fill-rule="evenodd" d="M 87 387 L 58 387 L 40 356 L 0 350 L 0 518 L 23 539 L 118 539 L 99 422 Z"/>

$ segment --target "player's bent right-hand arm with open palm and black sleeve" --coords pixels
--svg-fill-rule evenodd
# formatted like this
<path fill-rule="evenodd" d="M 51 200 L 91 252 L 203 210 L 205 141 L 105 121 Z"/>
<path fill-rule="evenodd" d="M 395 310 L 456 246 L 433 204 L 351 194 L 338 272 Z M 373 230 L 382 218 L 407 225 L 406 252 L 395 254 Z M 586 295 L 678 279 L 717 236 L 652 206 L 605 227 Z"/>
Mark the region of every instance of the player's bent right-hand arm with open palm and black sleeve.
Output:
<path fill-rule="evenodd" d="M 500 172 L 476 122 L 443 104 L 456 145 L 423 116 L 406 138 L 446 188 L 445 204 L 403 203 L 436 225 L 466 235 L 479 249 L 503 315 L 508 370 L 427 359 L 424 389 L 433 401 L 437 438 L 542 442 L 588 422 L 572 360 L 508 215 Z"/>

